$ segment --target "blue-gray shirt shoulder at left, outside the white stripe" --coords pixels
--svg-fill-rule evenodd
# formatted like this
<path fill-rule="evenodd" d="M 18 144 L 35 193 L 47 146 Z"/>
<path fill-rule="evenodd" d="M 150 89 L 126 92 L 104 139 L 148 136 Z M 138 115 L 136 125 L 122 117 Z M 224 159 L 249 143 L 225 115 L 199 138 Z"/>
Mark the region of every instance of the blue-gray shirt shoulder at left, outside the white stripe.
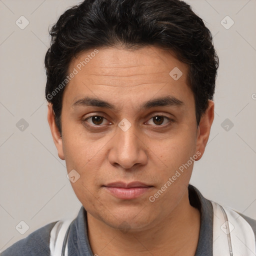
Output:
<path fill-rule="evenodd" d="M 4 250 L 0 256 L 48 256 L 50 231 L 56 222 L 49 223 Z"/>

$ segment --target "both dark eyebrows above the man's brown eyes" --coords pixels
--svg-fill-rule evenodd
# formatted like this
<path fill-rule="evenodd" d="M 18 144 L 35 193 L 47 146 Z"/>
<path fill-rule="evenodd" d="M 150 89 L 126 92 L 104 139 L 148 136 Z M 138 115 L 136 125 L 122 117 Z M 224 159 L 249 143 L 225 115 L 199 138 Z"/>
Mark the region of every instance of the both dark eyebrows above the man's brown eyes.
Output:
<path fill-rule="evenodd" d="M 139 110 L 148 109 L 148 108 L 157 107 L 157 106 L 182 106 L 182 105 L 184 105 L 183 101 L 177 99 L 174 96 L 167 95 L 167 96 L 150 99 L 146 102 L 143 102 L 139 106 Z M 78 99 L 72 104 L 73 108 L 76 108 L 77 106 L 97 106 L 97 107 L 108 108 L 111 110 L 116 110 L 116 107 L 113 104 L 107 101 L 104 101 L 102 99 L 91 98 L 88 96 Z"/>

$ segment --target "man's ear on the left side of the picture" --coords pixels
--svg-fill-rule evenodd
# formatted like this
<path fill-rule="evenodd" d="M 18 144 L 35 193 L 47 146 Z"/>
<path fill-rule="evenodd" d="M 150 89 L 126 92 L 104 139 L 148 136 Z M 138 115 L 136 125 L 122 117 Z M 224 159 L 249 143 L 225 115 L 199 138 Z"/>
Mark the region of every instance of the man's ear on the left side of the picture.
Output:
<path fill-rule="evenodd" d="M 48 114 L 47 114 L 48 123 L 50 126 L 51 135 L 54 141 L 54 144 L 58 150 L 58 157 L 62 160 L 64 160 L 64 153 L 63 153 L 63 147 L 62 147 L 62 138 L 58 131 L 58 128 L 56 126 L 55 120 L 54 120 L 54 113 L 52 109 L 52 104 L 48 104 Z"/>

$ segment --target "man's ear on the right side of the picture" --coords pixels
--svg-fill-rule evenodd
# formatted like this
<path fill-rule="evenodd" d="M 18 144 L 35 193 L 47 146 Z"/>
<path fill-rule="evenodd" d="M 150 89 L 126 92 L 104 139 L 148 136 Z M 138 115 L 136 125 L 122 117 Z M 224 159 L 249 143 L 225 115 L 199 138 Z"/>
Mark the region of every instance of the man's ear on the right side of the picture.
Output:
<path fill-rule="evenodd" d="M 201 152 L 200 156 L 196 160 L 199 160 L 202 157 L 205 146 L 207 144 L 210 127 L 214 118 L 214 102 L 208 100 L 208 107 L 206 111 L 202 114 L 200 118 L 199 125 L 197 127 L 197 139 L 196 139 L 196 152 Z"/>

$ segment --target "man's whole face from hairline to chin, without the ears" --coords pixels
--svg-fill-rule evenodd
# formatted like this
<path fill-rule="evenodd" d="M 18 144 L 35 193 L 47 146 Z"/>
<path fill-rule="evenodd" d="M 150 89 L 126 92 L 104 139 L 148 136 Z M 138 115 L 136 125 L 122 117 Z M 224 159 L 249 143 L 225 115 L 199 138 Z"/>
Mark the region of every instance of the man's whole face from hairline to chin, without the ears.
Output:
<path fill-rule="evenodd" d="M 63 93 L 58 153 L 67 171 L 80 175 L 71 184 L 88 214 L 112 227 L 125 223 L 143 230 L 171 216 L 184 200 L 191 158 L 200 149 L 188 67 L 147 46 L 98 48 L 79 70 L 92 51 L 69 65 L 69 73 L 78 73 Z M 124 187 L 133 181 L 143 184 Z"/>

